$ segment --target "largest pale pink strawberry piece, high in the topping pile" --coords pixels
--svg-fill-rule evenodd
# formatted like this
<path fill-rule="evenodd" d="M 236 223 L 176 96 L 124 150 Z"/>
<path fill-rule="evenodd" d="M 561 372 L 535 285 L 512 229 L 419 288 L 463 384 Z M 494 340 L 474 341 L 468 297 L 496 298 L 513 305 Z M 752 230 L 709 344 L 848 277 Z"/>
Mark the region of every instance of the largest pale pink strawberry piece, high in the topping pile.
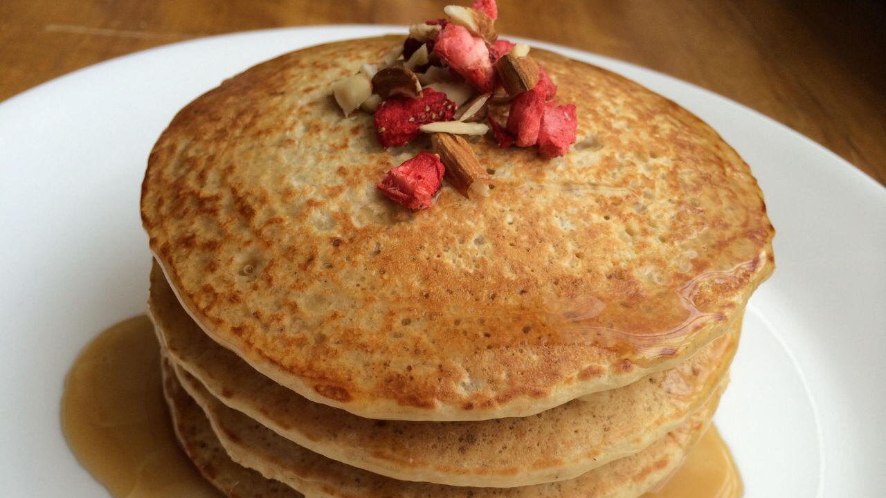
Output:
<path fill-rule="evenodd" d="M 481 93 L 494 89 L 495 71 L 489 61 L 489 49 L 482 38 L 471 35 L 467 28 L 447 24 L 437 35 L 434 53 Z"/>

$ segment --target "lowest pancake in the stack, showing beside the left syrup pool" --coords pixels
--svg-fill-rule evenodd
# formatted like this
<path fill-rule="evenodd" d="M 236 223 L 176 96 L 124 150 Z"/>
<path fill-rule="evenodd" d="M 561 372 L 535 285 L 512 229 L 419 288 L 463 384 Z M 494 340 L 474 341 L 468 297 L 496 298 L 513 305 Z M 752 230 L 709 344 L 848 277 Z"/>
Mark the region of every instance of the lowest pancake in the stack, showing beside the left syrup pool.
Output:
<path fill-rule="evenodd" d="M 175 436 L 203 477 L 229 498 L 303 498 L 278 481 L 265 479 L 230 459 L 206 420 L 203 410 L 182 389 L 164 360 L 163 394 Z"/>

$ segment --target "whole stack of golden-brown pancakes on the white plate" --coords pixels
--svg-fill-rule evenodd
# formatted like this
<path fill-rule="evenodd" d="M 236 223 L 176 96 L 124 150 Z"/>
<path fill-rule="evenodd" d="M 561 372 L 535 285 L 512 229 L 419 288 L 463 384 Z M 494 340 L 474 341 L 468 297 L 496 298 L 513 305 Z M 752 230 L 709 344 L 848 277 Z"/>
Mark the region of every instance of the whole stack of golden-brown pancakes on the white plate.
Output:
<path fill-rule="evenodd" d="M 183 448 L 228 496 L 635 497 L 711 421 L 773 269 L 749 167 L 636 83 L 534 50 L 562 158 L 471 143 L 490 195 L 412 212 L 336 82 L 402 43 L 292 52 L 186 106 L 142 192 Z M 490 113 L 494 110 L 490 110 Z"/>

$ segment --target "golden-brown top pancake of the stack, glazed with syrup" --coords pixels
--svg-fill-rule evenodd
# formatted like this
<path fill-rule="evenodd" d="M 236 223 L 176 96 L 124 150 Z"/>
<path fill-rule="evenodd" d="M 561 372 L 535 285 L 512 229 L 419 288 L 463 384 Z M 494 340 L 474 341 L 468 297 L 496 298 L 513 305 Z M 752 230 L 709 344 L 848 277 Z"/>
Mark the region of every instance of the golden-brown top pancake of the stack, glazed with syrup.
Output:
<path fill-rule="evenodd" d="M 579 144 L 472 144 L 489 198 L 377 193 L 386 151 L 330 83 L 400 43 L 331 43 L 186 106 L 144 178 L 145 230 L 206 333 L 312 401 L 371 418 L 526 416 L 668 368 L 727 330 L 773 268 L 747 165 L 695 116 L 595 66 L 532 55 Z"/>

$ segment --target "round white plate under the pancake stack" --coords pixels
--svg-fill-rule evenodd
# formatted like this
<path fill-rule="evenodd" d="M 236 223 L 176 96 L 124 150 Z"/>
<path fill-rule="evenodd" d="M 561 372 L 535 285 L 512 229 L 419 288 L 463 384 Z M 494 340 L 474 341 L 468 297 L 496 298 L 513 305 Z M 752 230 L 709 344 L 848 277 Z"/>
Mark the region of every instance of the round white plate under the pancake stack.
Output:
<path fill-rule="evenodd" d="M 62 380 L 97 331 L 141 313 L 145 160 L 173 114 L 247 66 L 401 27 L 224 35 L 116 58 L 0 105 L 0 494 L 96 496 L 66 447 Z M 886 496 L 886 190 L 804 136 L 624 62 L 741 152 L 777 230 L 717 422 L 749 498 Z"/>

